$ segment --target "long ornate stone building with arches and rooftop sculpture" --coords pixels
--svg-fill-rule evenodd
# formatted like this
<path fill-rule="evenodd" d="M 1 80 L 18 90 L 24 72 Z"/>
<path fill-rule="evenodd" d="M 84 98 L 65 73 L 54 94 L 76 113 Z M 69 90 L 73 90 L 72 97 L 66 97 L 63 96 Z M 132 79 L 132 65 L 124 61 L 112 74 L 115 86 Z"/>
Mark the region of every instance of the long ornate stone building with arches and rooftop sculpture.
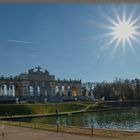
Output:
<path fill-rule="evenodd" d="M 63 97 L 80 96 L 81 80 L 56 80 L 41 67 L 28 70 L 15 77 L 0 77 L 0 96 L 4 97 Z"/>

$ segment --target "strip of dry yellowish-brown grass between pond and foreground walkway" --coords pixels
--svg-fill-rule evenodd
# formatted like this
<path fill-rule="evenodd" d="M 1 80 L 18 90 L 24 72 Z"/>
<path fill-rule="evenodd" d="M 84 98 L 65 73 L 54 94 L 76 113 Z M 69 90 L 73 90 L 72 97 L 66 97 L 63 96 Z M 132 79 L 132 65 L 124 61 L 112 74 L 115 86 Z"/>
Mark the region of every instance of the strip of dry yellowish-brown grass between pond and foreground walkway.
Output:
<path fill-rule="evenodd" d="M 6 124 L 6 125 L 19 126 L 19 127 L 28 127 L 28 128 L 49 130 L 49 131 L 55 131 L 55 132 L 58 130 L 58 132 L 66 132 L 66 133 L 92 136 L 92 128 L 81 128 L 81 127 L 76 127 L 76 126 L 60 126 L 60 125 L 57 127 L 57 125 L 50 125 L 50 124 L 12 122 L 12 121 L 11 122 L 3 121 L 0 123 Z M 140 136 L 140 132 L 94 128 L 93 136 L 123 138 L 123 137 L 131 137 L 131 136 L 132 137 Z"/>

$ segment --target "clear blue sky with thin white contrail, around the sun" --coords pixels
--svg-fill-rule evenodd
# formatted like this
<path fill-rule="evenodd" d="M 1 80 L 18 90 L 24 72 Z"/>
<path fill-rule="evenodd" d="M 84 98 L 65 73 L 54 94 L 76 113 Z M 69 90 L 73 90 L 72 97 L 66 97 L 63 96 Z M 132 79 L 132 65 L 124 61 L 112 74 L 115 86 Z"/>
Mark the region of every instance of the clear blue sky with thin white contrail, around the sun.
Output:
<path fill-rule="evenodd" d="M 115 18 L 136 10 L 140 4 L 7 4 L 0 5 L 0 75 L 18 75 L 35 66 L 60 79 L 113 81 L 140 78 L 140 43 L 132 41 L 113 53 L 115 42 L 106 16 Z M 137 22 L 140 25 L 140 21 Z M 140 37 L 137 36 L 139 40 Z"/>

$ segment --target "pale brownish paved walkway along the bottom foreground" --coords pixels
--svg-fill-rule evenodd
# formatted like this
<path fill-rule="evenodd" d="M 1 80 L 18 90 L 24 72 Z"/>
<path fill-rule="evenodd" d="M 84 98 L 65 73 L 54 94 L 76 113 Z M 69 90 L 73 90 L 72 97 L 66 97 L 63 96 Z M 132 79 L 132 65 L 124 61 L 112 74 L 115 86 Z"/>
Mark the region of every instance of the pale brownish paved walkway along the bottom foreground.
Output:
<path fill-rule="evenodd" d="M 0 140 L 140 140 L 140 137 L 107 138 L 91 137 L 85 135 L 75 135 L 68 133 L 57 133 L 51 131 L 0 125 L 5 136 L 0 136 Z"/>

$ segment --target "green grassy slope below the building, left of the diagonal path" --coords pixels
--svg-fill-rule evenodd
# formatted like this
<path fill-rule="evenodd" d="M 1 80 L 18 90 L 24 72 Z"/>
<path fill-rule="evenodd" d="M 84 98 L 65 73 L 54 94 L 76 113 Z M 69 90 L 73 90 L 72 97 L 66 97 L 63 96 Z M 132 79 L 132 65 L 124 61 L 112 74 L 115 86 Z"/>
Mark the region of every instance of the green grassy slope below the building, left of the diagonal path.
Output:
<path fill-rule="evenodd" d="M 86 104 L 78 102 L 68 103 L 48 103 L 48 104 L 4 104 L 0 105 L 0 116 L 5 115 L 31 115 L 31 114 L 47 114 L 55 113 L 59 108 L 59 112 L 78 111 L 84 109 Z"/>

